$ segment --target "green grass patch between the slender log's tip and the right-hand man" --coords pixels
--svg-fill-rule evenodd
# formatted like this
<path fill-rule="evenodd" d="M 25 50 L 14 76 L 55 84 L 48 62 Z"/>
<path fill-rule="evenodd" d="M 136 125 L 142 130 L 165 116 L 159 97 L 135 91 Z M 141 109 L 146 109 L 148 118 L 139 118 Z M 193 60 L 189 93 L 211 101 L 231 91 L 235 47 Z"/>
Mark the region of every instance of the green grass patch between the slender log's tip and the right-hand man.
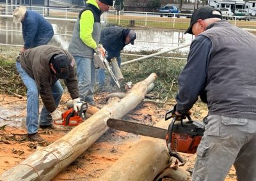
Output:
<path fill-rule="evenodd" d="M 186 57 L 180 52 L 172 54 L 165 54 L 168 57 Z M 132 57 L 124 57 L 125 59 L 132 59 Z M 157 79 L 155 82 L 154 92 L 157 92 L 159 99 L 174 98 L 178 91 L 177 80 L 180 71 L 186 64 L 185 60 L 177 60 L 170 58 L 156 58 L 147 59 L 145 61 L 134 62 L 121 67 L 125 82 L 137 83 L 144 80 L 151 73 L 156 73 Z"/>

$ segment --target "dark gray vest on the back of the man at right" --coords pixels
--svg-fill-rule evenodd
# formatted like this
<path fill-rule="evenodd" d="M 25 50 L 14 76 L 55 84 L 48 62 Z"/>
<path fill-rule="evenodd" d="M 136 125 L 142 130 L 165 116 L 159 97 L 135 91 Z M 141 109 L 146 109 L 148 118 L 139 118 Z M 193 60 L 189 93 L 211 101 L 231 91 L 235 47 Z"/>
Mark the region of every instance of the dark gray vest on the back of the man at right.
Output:
<path fill-rule="evenodd" d="M 205 87 L 209 113 L 255 117 L 256 37 L 225 20 L 200 35 L 212 41 Z"/>

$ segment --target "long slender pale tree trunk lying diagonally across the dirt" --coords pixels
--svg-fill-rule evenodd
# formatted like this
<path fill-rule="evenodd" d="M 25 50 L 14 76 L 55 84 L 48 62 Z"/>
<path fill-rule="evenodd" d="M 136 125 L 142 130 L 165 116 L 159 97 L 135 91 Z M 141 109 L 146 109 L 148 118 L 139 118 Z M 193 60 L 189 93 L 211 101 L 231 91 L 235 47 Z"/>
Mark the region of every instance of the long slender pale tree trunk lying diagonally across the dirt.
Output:
<path fill-rule="evenodd" d="M 36 150 L 22 163 L 4 172 L 0 180 L 51 180 L 108 130 L 106 121 L 109 118 L 120 119 L 136 108 L 147 93 L 148 85 L 155 79 L 156 73 L 152 73 L 136 83 L 125 98 L 113 99 L 68 134 L 48 147 Z"/>

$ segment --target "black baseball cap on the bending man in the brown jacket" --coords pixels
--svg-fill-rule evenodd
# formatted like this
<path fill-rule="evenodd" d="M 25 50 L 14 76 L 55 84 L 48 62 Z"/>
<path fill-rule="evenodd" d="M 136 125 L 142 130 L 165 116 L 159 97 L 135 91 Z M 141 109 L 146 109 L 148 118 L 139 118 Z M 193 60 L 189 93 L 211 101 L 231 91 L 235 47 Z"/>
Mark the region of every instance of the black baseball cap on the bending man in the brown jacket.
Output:
<path fill-rule="evenodd" d="M 53 68 L 56 71 L 56 76 L 61 79 L 68 78 L 70 61 L 65 54 L 53 55 L 51 59 Z"/>

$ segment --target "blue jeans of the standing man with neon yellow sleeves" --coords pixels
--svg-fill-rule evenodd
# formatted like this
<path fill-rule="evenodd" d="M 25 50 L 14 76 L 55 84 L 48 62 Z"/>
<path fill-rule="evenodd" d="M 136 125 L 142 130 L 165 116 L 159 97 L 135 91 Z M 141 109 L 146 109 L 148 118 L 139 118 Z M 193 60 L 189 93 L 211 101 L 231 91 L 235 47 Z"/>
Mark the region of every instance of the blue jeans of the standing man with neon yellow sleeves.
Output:
<path fill-rule="evenodd" d="M 74 56 L 78 78 L 79 97 L 93 104 L 93 89 L 95 85 L 95 67 L 93 59 Z"/>

